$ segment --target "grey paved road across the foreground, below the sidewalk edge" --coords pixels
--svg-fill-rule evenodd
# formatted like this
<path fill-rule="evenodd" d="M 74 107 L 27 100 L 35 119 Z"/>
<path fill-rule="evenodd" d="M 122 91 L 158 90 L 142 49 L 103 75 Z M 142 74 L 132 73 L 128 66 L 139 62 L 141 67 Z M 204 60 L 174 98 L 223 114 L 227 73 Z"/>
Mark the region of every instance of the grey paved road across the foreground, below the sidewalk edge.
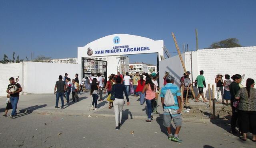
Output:
<path fill-rule="evenodd" d="M 183 142 L 178 143 L 168 140 L 161 116 L 151 123 L 125 116 L 122 122 L 120 130 L 115 130 L 113 117 L 37 112 L 20 113 L 14 119 L 0 116 L 0 145 L 2 148 L 256 147 L 255 142 L 244 142 L 229 134 L 226 131 L 229 126 L 225 124 L 184 122 L 180 131 Z"/>

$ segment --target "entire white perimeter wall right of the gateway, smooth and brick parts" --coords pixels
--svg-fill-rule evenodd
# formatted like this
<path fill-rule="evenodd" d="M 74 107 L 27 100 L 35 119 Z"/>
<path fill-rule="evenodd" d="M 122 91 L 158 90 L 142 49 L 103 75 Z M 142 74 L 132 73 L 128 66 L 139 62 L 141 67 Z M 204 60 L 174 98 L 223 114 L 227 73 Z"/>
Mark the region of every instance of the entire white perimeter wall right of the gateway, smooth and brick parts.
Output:
<path fill-rule="evenodd" d="M 204 93 L 208 98 L 208 84 L 214 85 L 216 98 L 216 83 L 214 81 L 216 75 L 228 74 L 230 77 L 234 74 L 244 75 L 242 85 L 246 85 L 246 79 L 252 78 L 256 81 L 256 46 L 252 47 L 234 47 L 219 49 L 200 49 L 198 51 L 190 51 L 182 53 L 187 71 L 190 71 L 190 79 L 195 81 L 199 75 L 199 71 L 204 71 L 206 79 L 206 88 Z M 178 55 L 170 57 L 159 62 L 160 69 L 160 87 L 163 86 L 164 74 L 169 71 L 175 77 L 175 85 L 180 86 L 180 77 L 183 76 L 184 70 Z M 225 77 L 223 77 L 225 80 Z M 194 87 L 195 94 L 198 89 Z M 212 89 L 210 89 L 212 92 Z"/>

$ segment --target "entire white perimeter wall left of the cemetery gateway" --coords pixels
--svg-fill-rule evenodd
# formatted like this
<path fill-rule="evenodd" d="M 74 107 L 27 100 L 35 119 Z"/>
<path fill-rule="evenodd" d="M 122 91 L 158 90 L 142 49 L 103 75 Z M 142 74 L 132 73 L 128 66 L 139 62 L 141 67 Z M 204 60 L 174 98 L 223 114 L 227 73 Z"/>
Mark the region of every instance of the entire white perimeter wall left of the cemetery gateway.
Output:
<path fill-rule="evenodd" d="M 20 76 L 20 83 L 22 85 L 22 93 L 54 93 L 54 86 L 58 81 L 58 76 L 64 77 L 68 73 L 70 79 L 75 78 L 76 73 L 80 73 L 80 64 L 67 63 L 38 63 L 25 62 L 14 64 L 0 65 L 0 96 L 5 96 L 9 78 Z M 79 81 L 81 79 L 79 78 Z"/>

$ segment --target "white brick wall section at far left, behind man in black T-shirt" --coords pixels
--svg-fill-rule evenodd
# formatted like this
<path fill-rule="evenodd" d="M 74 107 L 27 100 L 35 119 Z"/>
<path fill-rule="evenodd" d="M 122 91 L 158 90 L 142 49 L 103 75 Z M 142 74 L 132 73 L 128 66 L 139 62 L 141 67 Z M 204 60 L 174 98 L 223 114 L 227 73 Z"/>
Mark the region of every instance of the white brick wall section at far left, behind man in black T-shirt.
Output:
<path fill-rule="evenodd" d="M 0 96 L 6 96 L 6 89 L 9 82 L 10 77 L 14 77 L 14 79 L 20 76 L 20 85 L 22 85 L 22 63 L 12 63 L 12 64 L 0 64 Z"/>

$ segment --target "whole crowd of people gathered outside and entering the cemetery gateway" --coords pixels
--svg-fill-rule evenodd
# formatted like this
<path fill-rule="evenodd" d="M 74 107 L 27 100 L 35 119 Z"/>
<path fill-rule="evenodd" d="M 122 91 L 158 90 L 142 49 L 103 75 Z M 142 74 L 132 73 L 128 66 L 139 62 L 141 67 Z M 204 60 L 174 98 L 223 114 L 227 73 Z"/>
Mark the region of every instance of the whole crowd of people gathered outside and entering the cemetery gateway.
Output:
<path fill-rule="evenodd" d="M 189 78 L 190 72 L 184 73 L 180 79 L 180 86 L 174 85 L 174 77 L 168 72 L 164 75 L 164 86 L 158 87 L 157 79 L 159 79 L 156 73 L 149 75 L 148 73 L 138 72 L 133 76 L 126 73 L 126 75 L 111 74 L 108 77 L 108 81 L 103 79 L 100 73 L 97 77 L 92 75 L 90 79 L 90 95 L 92 96 L 92 110 L 97 110 L 97 102 L 103 101 L 102 93 L 108 93 L 109 106 L 108 109 L 114 108 L 116 130 L 120 129 L 122 120 L 122 110 L 125 104 L 124 95 L 126 97 L 127 105 L 130 105 L 129 95 L 134 94 L 135 97 L 139 97 L 140 105 L 144 105 L 146 102 L 147 107 L 147 119 L 146 122 L 152 122 L 153 114 L 159 114 L 158 107 L 158 95 L 161 97 L 162 109 L 164 111 L 163 125 L 168 132 L 168 139 L 176 142 L 182 142 L 178 134 L 182 126 L 181 116 L 181 92 L 180 87 L 183 86 L 184 95 L 183 99 L 192 98 L 192 87 L 198 87 L 198 95 L 194 98 L 195 102 L 200 102 L 198 99 L 202 96 L 203 102 L 208 102 L 204 97 L 204 88 L 206 87 L 204 71 L 200 71 L 200 75 L 196 77 L 196 80 L 191 83 Z M 215 77 L 217 101 L 222 99 L 222 104 L 231 105 L 232 118 L 231 118 L 231 133 L 235 134 L 236 126 L 239 127 L 240 138 L 247 140 L 247 133 L 252 132 L 252 141 L 256 142 L 256 89 L 254 89 L 254 80 L 247 79 L 246 87 L 241 87 L 242 76 L 239 74 L 233 75 L 230 80 L 230 75 L 225 75 L 225 80 L 222 79 L 223 75 L 218 73 Z M 58 108 L 59 99 L 61 100 L 61 109 L 64 109 L 64 97 L 66 98 L 66 105 L 69 105 L 69 95 L 72 92 L 72 102 L 79 101 L 78 95 L 81 94 L 81 85 L 79 85 L 78 74 L 75 75 L 75 79 L 70 79 L 68 73 L 65 73 L 62 81 L 62 75 L 58 77 L 59 81 L 56 81 L 54 87 L 54 94 L 56 95 L 56 105 Z M 17 115 L 16 109 L 19 100 L 19 93 L 22 88 L 19 83 L 15 82 L 14 78 L 9 79 L 10 84 L 7 88 L 7 100 L 6 111 L 4 116 L 7 116 L 9 109 L 12 109 L 11 118 Z M 104 84 L 105 83 L 105 84 Z M 82 84 L 83 85 L 83 84 Z M 104 87 L 105 86 L 105 87 Z M 226 101 L 226 103 L 224 102 Z M 230 100 L 230 102 L 229 102 Z M 187 101 L 187 103 L 189 103 Z M 174 120 L 176 126 L 174 134 L 171 132 L 171 120 Z M 238 125 L 236 125 L 238 120 Z"/>

